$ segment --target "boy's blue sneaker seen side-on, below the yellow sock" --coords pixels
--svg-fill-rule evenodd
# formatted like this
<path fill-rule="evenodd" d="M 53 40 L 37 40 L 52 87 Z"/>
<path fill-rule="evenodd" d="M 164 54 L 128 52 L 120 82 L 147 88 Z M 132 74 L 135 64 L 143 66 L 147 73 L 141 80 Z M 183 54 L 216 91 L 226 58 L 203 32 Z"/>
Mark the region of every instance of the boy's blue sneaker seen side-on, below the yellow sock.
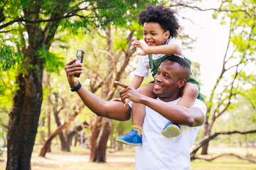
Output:
<path fill-rule="evenodd" d="M 137 130 L 132 129 L 126 135 L 117 137 L 117 142 L 132 146 L 142 146 L 142 135 L 139 136 Z"/>

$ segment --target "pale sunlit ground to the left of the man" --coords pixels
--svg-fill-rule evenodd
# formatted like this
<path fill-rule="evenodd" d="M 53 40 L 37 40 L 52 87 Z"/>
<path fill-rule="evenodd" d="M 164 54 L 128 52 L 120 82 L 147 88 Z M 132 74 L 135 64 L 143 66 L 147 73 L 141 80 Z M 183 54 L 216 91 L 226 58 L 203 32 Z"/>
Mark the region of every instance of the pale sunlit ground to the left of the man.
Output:
<path fill-rule="evenodd" d="M 90 155 L 84 153 L 57 152 L 47 153 L 46 158 L 32 154 L 32 170 L 132 170 L 134 166 L 134 153 L 107 152 L 107 163 L 97 164 L 88 162 Z M 4 152 L 6 160 L 6 152 Z M 6 162 L 0 162 L 0 170 L 4 170 Z"/>

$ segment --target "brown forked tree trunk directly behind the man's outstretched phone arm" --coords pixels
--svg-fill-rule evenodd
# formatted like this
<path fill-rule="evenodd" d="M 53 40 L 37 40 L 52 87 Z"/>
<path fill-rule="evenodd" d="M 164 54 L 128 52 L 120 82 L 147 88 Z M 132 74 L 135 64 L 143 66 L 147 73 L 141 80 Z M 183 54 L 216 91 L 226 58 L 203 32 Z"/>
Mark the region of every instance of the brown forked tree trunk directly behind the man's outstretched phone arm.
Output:
<path fill-rule="evenodd" d="M 116 45 L 117 50 L 114 51 L 114 38 L 112 38 L 112 32 L 119 32 L 120 35 L 126 35 L 126 39 L 122 39 L 123 42 L 119 42 Z M 124 33 L 122 33 L 124 31 Z M 117 89 L 117 85 L 114 81 L 120 81 L 122 78 L 129 74 L 129 71 L 125 72 L 129 61 L 131 60 L 135 47 L 132 46 L 132 40 L 134 40 L 134 30 L 122 30 L 116 28 L 112 30 L 109 26 L 101 35 L 106 40 L 107 50 L 103 52 L 102 58 L 105 58 L 105 62 L 97 63 L 97 69 L 92 69 L 93 76 L 90 76 L 90 91 L 96 92 L 101 88 L 100 97 L 105 100 L 110 100 L 114 96 L 114 92 Z M 117 34 L 116 34 L 117 35 Z M 106 57 L 104 57 L 106 56 Z M 99 55 L 97 55 L 99 57 Z M 107 72 L 102 74 L 102 70 L 107 68 Z M 97 70 L 100 70 L 97 71 Z M 94 122 L 91 123 L 92 135 L 90 137 L 90 161 L 92 162 L 106 162 L 105 152 L 107 149 L 107 139 L 110 135 L 110 127 L 112 120 L 108 118 L 97 117 Z"/>

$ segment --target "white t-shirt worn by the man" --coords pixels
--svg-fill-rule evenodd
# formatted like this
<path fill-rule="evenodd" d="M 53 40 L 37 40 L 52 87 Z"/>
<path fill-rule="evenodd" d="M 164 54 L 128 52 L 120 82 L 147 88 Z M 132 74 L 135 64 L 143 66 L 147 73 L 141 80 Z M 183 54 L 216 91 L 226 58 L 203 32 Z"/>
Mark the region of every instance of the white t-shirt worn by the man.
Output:
<path fill-rule="evenodd" d="M 169 103 L 176 104 L 179 99 Z M 196 99 L 192 107 L 200 108 L 206 114 L 206 105 L 202 101 Z M 181 134 L 178 137 L 166 138 L 161 135 L 161 130 L 168 121 L 156 111 L 146 107 L 142 125 L 142 146 L 137 147 L 135 154 L 136 170 L 183 170 L 191 166 L 190 149 L 200 126 L 191 128 L 180 125 Z"/>

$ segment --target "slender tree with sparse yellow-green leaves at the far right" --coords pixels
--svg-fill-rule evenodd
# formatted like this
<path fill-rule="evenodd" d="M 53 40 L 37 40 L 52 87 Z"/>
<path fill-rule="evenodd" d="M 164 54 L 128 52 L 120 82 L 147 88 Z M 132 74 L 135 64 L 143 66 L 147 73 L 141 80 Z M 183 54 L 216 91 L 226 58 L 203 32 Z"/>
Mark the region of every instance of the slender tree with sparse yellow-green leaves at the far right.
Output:
<path fill-rule="evenodd" d="M 222 132 L 215 132 L 214 135 L 211 135 L 216 120 L 221 115 L 232 112 L 233 106 L 237 104 L 236 98 L 245 96 L 242 90 L 243 85 L 252 82 L 249 77 L 255 77 L 255 73 L 248 69 L 255 67 L 255 1 L 220 1 L 219 8 L 200 8 L 193 6 L 193 3 L 189 4 L 183 1 L 175 1 L 171 6 L 193 8 L 198 11 L 213 10 L 215 11 L 213 18 L 221 17 L 222 23 L 230 27 L 220 76 L 216 80 L 210 96 L 206 96 L 207 113 L 204 140 L 191 152 L 193 159 L 200 147 L 202 147 L 201 154 L 208 154 L 209 141 L 215 135 L 222 134 Z M 246 74 L 250 76 L 245 76 Z M 252 100 L 249 96 L 245 96 L 245 98 Z M 255 130 L 248 130 L 247 132 L 251 131 L 255 132 Z M 238 133 L 247 134 L 247 132 Z M 226 132 L 224 134 L 233 133 Z"/>

